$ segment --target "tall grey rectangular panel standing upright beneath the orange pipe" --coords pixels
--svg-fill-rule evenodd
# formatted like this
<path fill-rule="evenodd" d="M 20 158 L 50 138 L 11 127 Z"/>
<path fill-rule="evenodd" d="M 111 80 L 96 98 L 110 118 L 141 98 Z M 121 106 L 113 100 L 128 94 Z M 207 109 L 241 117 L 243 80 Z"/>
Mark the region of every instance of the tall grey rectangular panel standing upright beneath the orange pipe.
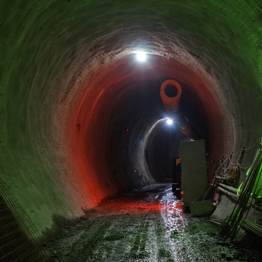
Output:
<path fill-rule="evenodd" d="M 180 142 L 182 202 L 184 206 L 201 199 L 207 191 L 205 141 Z"/>

